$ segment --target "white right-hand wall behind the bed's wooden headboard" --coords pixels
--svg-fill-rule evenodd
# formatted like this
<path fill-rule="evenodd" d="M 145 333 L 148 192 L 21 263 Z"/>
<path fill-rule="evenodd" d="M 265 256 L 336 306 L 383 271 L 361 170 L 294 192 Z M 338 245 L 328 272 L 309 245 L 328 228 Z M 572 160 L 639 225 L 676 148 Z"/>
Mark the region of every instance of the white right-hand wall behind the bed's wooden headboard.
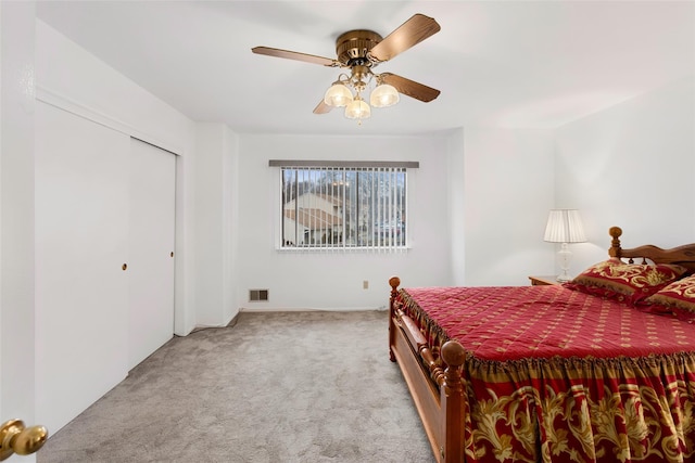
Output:
<path fill-rule="evenodd" d="M 695 78 L 556 130 L 556 206 L 578 207 L 590 243 L 571 245 L 577 273 L 622 244 L 695 241 Z"/>

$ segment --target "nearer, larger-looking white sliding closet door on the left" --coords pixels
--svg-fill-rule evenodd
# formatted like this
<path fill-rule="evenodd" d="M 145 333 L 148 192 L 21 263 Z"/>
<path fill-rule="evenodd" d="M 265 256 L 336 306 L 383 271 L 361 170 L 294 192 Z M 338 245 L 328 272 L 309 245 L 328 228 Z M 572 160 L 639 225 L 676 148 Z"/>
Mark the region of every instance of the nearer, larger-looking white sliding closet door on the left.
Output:
<path fill-rule="evenodd" d="M 51 433 L 128 372 L 129 144 L 36 103 L 36 417 Z"/>

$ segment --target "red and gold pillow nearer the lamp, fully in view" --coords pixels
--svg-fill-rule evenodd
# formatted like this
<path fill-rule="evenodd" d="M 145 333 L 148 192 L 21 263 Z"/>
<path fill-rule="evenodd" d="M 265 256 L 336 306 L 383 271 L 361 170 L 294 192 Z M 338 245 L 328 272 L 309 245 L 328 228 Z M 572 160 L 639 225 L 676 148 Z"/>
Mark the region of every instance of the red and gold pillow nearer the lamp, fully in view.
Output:
<path fill-rule="evenodd" d="M 686 272 L 685 267 L 671 263 L 626 263 L 618 258 L 611 258 L 591 266 L 564 286 L 634 305 Z"/>

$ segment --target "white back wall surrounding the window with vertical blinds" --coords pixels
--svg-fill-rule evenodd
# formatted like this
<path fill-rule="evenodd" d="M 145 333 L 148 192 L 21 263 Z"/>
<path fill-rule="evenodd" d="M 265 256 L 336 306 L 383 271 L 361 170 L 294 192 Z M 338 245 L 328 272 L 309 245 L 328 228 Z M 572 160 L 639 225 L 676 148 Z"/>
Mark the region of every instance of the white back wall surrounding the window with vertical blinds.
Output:
<path fill-rule="evenodd" d="M 451 284 L 446 137 L 240 136 L 237 234 L 240 304 L 245 309 L 358 309 L 388 303 L 388 280 Z M 301 254 L 276 250 L 279 170 L 268 159 L 418 160 L 408 170 L 413 248 L 403 254 Z M 369 288 L 363 290 L 363 281 Z M 248 303 L 251 288 L 268 303 Z"/>

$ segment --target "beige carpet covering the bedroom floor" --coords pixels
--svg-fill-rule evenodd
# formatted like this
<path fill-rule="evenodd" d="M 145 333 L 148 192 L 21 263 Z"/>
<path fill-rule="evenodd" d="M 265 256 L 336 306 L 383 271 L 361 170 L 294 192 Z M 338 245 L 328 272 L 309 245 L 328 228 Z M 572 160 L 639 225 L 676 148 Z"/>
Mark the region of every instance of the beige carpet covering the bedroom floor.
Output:
<path fill-rule="evenodd" d="M 388 314 L 243 312 L 175 337 L 38 453 L 39 463 L 417 462 L 432 454 Z"/>

